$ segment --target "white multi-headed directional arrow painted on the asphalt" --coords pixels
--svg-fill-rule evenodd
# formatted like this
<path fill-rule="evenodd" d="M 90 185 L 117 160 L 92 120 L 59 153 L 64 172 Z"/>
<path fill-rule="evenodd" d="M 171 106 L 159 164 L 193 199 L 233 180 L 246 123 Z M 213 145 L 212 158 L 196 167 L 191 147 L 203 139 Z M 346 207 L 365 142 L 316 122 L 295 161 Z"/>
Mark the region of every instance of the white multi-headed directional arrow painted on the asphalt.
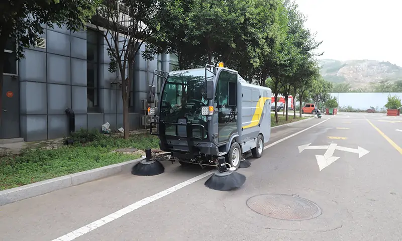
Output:
<path fill-rule="evenodd" d="M 334 163 L 336 160 L 339 159 L 339 157 L 333 156 L 335 150 L 356 153 L 356 154 L 359 154 L 359 158 L 361 158 L 362 156 L 369 153 L 369 151 L 367 151 L 366 149 L 364 149 L 362 147 L 357 147 L 357 149 L 353 149 L 353 148 L 348 148 L 348 147 L 341 147 L 335 143 L 332 143 L 329 146 L 310 146 L 310 145 L 311 145 L 311 143 L 302 145 L 302 146 L 298 146 L 297 148 L 298 148 L 299 153 L 303 152 L 304 150 L 321 150 L 321 149 L 327 150 L 324 155 L 316 155 L 317 164 L 318 164 L 318 167 L 320 168 L 320 171 L 323 170 L 324 168 L 328 167 L 329 165 L 331 165 L 332 163 Z"/>

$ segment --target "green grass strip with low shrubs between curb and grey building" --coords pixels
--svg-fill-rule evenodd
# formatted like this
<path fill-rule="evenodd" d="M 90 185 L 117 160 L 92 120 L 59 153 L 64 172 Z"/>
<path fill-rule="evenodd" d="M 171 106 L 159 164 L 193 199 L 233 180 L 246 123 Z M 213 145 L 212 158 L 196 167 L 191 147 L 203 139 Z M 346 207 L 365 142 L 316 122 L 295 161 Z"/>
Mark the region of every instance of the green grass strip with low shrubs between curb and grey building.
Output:
<path fill-rule="evenodd" d="M 150 135 L 136 135 L 124 140 L 81 131 L 74 136 L 74 139 L 81 143 L 51 150 L 27 148 L 22 150 L 20 155 L 0 158 L 0 190 L 140 157 L 119 152 L 112 153 L 118 148 L 137 148 L 139 150 L 159 148 L 158 139 Z"/>

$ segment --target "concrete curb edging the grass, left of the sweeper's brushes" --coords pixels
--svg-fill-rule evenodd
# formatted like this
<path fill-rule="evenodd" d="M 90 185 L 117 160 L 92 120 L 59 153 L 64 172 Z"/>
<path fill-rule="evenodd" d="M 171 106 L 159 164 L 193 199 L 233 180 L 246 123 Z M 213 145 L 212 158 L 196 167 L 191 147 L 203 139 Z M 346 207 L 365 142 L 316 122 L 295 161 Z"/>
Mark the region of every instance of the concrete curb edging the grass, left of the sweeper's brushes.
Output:
<path fill-rule="evenodd" d="M 97 179 L 109 177 L 131 168 L 143 158 L 113 164 L 105 167 L 78 172 L 66 176 L 56 177 L 49 180 L 44 180 L 21 187 L 11 188 L 0 191 L 0 206 L 21 201 L 27 198 L 36 197 L 49 192 L 60 190 L 66 187 L 79 185 L 82 183 L 94 181 Z"/>

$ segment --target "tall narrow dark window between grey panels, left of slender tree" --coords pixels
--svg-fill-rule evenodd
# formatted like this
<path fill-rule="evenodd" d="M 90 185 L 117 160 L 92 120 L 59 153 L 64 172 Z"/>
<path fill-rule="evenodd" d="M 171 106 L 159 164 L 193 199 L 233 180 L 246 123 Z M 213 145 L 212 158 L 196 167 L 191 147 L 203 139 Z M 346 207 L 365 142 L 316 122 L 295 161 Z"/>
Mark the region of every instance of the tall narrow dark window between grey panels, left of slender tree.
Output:
<path fill-rule="evenodd" d="M 88 112 L 97 112 L 99 107 L 99 50 L 102 34 L 86 31 L 86 101 Z"/>

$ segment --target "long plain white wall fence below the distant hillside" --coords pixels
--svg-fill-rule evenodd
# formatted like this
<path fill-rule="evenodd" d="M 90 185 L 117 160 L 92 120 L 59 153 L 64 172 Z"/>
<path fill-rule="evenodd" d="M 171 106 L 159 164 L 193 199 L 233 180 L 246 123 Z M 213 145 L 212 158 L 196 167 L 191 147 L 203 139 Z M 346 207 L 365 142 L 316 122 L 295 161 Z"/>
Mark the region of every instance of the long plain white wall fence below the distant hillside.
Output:
<path fill-rule="evenodd" d="M 355 109 L 368 109 L 373 106 L 377 110 L 384 108 L 388 95 L 396 95 L 402 99 L 402 93 L 330 93 L 338 99 L 340 107 L 352 106 Z"/>

